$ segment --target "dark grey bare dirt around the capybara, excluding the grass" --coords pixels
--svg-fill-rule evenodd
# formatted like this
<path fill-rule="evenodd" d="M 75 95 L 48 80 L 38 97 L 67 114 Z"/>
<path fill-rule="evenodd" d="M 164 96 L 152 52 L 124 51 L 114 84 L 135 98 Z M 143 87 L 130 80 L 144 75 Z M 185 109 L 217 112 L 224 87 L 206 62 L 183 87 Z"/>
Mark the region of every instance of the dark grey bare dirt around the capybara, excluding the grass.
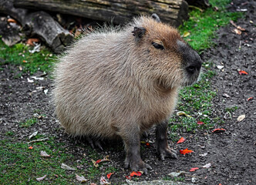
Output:
<path fill-rule="evenodd" d="M 149 175 L 143 175 L 140 180 L 155 180 L 167 177 L 170 172 L 177 170 L 189 172 L 192 167 L 199 167 L 190 173 L 190 177 L 185 177 L 185 182 L 191 183 L 191 176 L 196 178 L 197 184 L 256 184 L 256 2 L 234 0 L 229 7 L 231 11 L 242 11 L 247 9 L 245 17 L 235 22 L 246 31 L 237 35 L 233 32 L 234 25 L 227 25 L 218 32 L 216 46 L 202 54 L 204 61 L 214 63 L 214 70 L 217 76 L 212 79 L 212 86 L 217 89 L 217 96 L 214 99 L 213 115 L 224 120 L 223 133 L 211 133 L 198 131 L 197 133 L 182 133 L 187 140 L 179 145 L 173 145 L 175 150 L 189 147 L 194 150 L 191 155 L 179 155 L 177 160 L 159 160 L 156 156 L 154 143 L 150 147 L 142 147 L 142 158 L 149 163 L 153 170 Z M 254 21 L 251 23 L 250 21 Z M 224 66 L 217 69 L 217 66 Z M 6 132 L 13 131 L 15 138 L 27 140 L 27 137 L 39 131 L 40 134 L 55 136 L 56 142 L 66 143 L 67 153 L 72 153 L 77 160 L 87 157 L 88 143 L 83 140 L 74 140 L 60 129 L 59 122 L 56 120 L 52 103 L 50 101 L 52 80 L 34 80 L 28 82 L 31 76 L 24 75 L 22 78 L 15 79 L 15 73 L 19 70 L 16 66 L 2 65 L 0 73 L 0 139 L 7 136 Z M 239 75 L 237 69 L 248 72 L 248 75 Z M 34 76 L 40 76 L 38 73 Z M 42 87 L 42 89 L 37 89 Z M 45 94 L 44 90 L 49 89 Z M 251 100 L 247 100 L 253 97 Z M 227 113 L 225 109 L 237 106 L 234 113 Z M 35 113 L 44 115 L 38 123 L 21 128 L 20 122 L 32 118 Z M 241 122 L 237 117 L 245 115 Z M 216 125 L 216 128 L 219 127 Z M 150 139 L 154 140 L 154 133 L 150 132 Z M 106 165 L 111 165 L 118 172 L 111 177 L 113 183 L 125 182 L 125 176 L 130 170 L 123 170 L 123 160 L 125 153 L 121 142 L 111 143 L 105 146 L 105 151 L 99 151 L 100 156 L 109 154 L 112 160 Z M 206 156 L 199 154 L 207 153 Z M 86 154 L 86 155 L 85 155 Z M 71 162 L 72 163 L 72 162 Z M 75 161 L 74 161 L 75 163 Z M 211 163 L 211 167 L 202 168 L 205 164 Z M 103 166 L 100 168 L 105 176 Z M 82 169 L 86 169 L 83 166 Z M 100 177 L 100 176 L 99 176 Z M 95 181 L 95 183 L 99 183 Z"/>

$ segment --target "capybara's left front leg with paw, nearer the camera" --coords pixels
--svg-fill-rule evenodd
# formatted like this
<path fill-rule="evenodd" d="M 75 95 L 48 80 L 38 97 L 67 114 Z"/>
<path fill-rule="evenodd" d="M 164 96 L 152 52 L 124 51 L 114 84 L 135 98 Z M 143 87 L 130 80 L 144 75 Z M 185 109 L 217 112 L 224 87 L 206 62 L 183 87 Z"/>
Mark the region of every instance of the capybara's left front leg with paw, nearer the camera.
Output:
<path fill-rule="evenodd" d="M 140 157 L 140 133 L 138 130 L 126 130 L 123 133 L 122 138 L 126 148 L 126 160 L 124 161 L 124 167 L 130 167 L 133 171 L 142 170 L 147 174 L 147 169 L 152 170 L 150 165 L 144 163 Z"/>

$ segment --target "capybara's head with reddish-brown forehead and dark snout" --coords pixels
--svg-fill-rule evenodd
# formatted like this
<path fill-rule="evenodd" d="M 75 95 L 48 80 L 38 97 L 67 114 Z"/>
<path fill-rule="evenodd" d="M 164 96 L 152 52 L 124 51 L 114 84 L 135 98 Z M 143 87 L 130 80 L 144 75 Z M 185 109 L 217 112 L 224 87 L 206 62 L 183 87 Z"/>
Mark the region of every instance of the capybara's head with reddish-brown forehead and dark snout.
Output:
<path fill-rule="evenodd" d="M 202 64 L 200 56 L 181 38 L 177 29 L 160 22 L 155 14 L 135 19 L 134 23 L 138 53 L 147 60 L 150 75 L 157 79 L 159 86 L 171 89 L 197 82 Z"/>

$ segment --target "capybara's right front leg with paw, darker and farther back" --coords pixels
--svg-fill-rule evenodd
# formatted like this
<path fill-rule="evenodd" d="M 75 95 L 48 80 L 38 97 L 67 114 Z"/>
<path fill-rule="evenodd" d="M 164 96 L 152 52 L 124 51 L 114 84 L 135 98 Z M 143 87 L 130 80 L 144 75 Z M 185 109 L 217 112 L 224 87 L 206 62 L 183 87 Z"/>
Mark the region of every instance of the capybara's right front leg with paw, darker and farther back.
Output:
<path fill-rule="evenodd" d="M 161 160 L 164 160 L 165 157 L 177 158 L 176 151 L 170 149 L 167 142 L 167 126 L 168 121 L 164 121 L 157 125 L 156 130 L 157 153 L 160 155 Z"/>

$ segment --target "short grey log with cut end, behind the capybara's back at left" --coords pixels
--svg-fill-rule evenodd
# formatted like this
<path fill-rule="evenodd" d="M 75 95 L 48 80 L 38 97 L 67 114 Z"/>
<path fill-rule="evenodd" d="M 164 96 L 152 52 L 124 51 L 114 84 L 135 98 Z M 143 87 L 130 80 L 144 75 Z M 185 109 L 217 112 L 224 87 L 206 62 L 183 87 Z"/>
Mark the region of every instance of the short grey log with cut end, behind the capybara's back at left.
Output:
<path fill-rule="evenodd" d="M 72 42 L 72 35 L 46 12 L 29 12 L 24 8 L 15 8 L 12 0 L 2 0 L 0 13 L 15 18 L 22 25 L 25 35 L 39 36 L 53 52 L 61 52 Z"/>

